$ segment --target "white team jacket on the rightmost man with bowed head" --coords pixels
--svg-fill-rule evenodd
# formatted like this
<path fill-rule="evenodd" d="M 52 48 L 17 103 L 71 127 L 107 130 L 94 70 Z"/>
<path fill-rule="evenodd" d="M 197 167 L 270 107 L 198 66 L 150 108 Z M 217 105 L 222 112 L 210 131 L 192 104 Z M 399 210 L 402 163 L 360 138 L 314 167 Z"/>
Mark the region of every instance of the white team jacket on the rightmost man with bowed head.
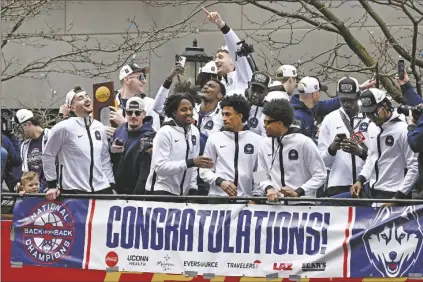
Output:
<path fill-rule="evenodd" d="M 359 180 L 368 181 L 375 190 L 396 192 L 395 198 L 404 197 L 418 178 L 417 154 L 407 143 L 407 124 L 393 112 L 381 126 L 370 123 L 368 135 L 369 152 Z"/>

